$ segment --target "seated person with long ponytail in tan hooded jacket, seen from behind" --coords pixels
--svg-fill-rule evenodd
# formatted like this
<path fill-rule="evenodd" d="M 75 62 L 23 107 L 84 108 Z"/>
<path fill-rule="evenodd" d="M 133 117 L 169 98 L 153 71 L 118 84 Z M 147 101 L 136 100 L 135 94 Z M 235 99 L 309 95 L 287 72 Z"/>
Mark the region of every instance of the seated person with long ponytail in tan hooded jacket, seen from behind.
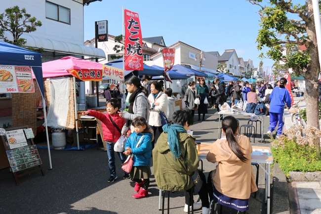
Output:
<path fill-rule="evenodd" d="M 251 192 L 256 192 L 251 166 L 252 146 L 246 136 L 239 134 L 238 121 L 227 116 L 222 121 L 225 137 L 216 140 L 206 159 L 218 165 L 207 179 L 210 214 L 217 214 L 218 204 L 238 210 L 248 210 Z"/>

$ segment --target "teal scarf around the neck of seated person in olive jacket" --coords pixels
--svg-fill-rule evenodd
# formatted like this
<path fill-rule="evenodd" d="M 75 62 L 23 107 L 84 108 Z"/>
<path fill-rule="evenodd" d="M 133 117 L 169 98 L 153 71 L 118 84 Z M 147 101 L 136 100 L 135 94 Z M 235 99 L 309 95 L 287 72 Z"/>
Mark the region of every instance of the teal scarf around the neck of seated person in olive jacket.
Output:
<path fill-rule="evenodd" d="M 169 143 L 169 150 L 173 153 L 173 157 L 176 160 L 182 154 L 182 150 L 179 147 L 177 132 L 187 133 L 187 131 L 178 124 L 166 124 L 162 128 L 165 133 L 168 133 L 167 140 Z"/>

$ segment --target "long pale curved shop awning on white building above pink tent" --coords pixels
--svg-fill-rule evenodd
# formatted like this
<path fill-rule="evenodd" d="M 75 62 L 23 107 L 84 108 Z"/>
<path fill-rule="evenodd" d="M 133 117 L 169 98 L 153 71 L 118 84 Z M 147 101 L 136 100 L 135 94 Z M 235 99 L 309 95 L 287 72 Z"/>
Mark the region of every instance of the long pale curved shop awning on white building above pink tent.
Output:
<path fill-rule="evenodd" d="M 27 40 L 25 46 L 43 48 L 44 51 L 106 59 L 105 52 L 99 48 L 87 47 L 79 44 L 64 43 L 60 41 L 30 36 L 27 34 L 23 34 L 21 38 Z"/>

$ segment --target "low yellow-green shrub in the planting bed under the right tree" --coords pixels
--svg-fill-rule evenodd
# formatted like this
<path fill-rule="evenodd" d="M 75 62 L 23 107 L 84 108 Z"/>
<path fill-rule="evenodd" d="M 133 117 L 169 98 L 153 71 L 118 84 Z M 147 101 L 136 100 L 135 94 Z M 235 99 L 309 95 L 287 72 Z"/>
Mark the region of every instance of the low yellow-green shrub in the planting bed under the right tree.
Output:
<path fill-rule="evenodd" d="M 287 177 L 289 171 L 321 171 L 316 146 L 299 145 L 294 140 L 285 138 L 283 144 L 272 147 L 272 154 Z"/>

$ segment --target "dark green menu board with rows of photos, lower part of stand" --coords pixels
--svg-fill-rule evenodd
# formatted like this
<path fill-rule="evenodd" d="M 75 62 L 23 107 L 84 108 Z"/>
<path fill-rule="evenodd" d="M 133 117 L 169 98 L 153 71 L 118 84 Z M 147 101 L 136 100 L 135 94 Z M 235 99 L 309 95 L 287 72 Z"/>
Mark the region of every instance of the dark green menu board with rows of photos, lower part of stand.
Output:
<path fill-rule="evenodd" d="M 6 151 L 12 172 L 25 170 L 41 164 L 36 145 Z"/>

